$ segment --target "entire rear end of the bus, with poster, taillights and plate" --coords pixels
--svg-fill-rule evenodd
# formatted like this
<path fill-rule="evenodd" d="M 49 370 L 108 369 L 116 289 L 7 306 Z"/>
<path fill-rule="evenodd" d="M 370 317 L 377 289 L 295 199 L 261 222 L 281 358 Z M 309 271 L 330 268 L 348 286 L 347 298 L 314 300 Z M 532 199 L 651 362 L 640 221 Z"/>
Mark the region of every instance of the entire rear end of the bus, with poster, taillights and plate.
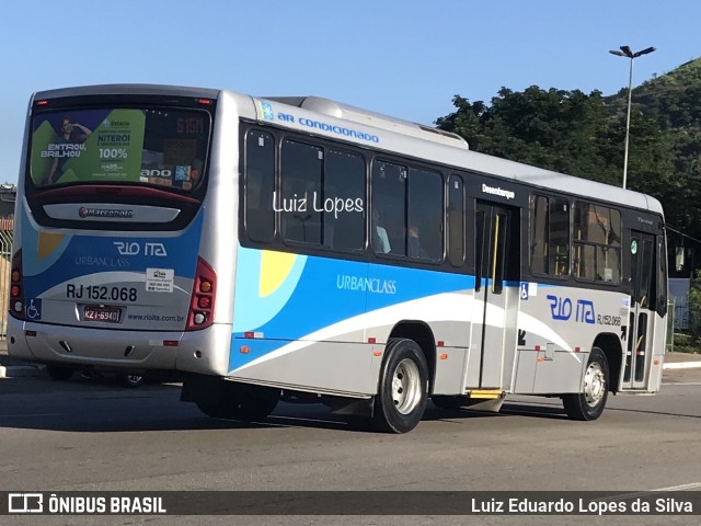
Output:
<path fill-rule="evenodd" d="M 218 92 L 83 91 L 32 101 L 10 352 L 175 369 L 215 321 L 216 272 L 200 247 Z"/>

